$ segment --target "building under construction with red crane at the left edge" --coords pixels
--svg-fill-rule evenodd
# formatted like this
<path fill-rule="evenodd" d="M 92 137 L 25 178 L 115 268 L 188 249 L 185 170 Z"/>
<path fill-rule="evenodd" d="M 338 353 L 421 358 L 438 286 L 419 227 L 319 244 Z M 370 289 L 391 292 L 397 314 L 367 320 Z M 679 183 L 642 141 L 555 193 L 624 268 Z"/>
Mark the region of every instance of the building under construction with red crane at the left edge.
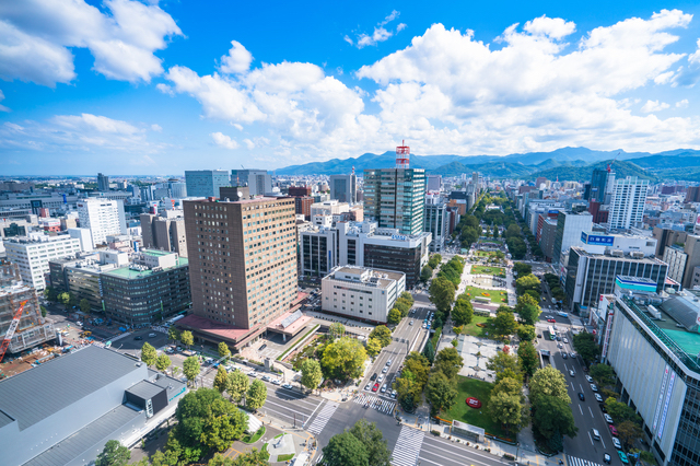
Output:
<path fill-rule="evenodd" d="M 54 358 L 54 324 L 42 316 L 33 287 L 22 282 L 14 264 L 0 264 L 0 378 Z"/>

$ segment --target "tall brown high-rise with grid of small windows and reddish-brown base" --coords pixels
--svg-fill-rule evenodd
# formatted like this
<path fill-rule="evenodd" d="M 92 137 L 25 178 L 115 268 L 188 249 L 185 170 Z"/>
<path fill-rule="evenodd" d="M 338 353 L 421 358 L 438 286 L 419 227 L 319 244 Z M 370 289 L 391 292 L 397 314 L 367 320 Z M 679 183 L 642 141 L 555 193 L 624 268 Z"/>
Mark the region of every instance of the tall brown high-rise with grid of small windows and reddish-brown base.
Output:
<path fill-rule="evenodd" d="M 238 347 L 296 299 L 294 199 L 184 205 L 194 315 L 178 326 Z"/>

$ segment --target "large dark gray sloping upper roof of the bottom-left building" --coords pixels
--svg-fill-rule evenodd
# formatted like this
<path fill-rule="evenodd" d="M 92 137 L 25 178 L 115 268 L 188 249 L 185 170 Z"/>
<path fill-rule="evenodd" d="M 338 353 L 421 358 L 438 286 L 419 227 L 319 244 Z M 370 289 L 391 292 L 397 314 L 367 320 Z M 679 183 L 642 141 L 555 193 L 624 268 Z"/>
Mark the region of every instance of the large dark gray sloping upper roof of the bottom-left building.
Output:
<path fill-rule="evenodd" d="M 22 431 L 138 370 L 137 362 L 91 345 L 0 381 L 0 411 Z"/>

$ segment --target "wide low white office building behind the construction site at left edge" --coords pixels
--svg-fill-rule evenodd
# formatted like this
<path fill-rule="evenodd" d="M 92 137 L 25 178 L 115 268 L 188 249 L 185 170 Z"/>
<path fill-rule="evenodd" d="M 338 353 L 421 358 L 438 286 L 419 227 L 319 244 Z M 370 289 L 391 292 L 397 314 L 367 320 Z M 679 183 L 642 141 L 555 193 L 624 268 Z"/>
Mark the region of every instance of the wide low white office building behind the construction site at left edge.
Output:
<path fill-rule="evenodd" d="M 20 268 L 22 281 L 37 290 L 44 290 L 44 276 L 49 272 L 48 261 L 80 253 L 80 240 L 67 235 L 35 234 L 7 238 L 4 247 L 8 260 Z"/>

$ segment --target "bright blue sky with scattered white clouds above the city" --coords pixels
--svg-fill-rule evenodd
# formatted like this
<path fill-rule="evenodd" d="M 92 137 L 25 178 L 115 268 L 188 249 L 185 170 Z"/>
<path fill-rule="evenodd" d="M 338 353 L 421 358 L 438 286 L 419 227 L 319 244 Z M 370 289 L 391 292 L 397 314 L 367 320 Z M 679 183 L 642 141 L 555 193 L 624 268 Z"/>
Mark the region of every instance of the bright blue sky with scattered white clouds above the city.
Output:
<path fill-rule="evenodd" d="M 0 1 L 0 176 L 700 149 L 700 3 Z"/>

